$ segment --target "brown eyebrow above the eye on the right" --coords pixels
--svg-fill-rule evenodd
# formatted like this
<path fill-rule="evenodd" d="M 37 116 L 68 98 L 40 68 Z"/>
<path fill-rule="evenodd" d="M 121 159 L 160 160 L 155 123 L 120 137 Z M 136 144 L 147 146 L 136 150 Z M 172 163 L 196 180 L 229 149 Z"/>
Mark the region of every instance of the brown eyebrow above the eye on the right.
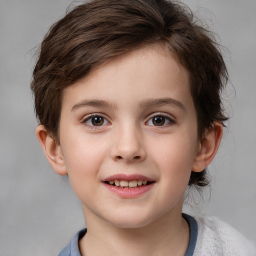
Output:
<path fill-rule="evenodd" d="M 149 106 L 164 106 L 164 105 L 172 105 L 174 107 L 178 107 L 181 108 L 181 110 L 186 111 L 186 108 L 184 106 L 184 104 L 174 98 L 149 98 L 149 99 L 145 99 L 142 100 L 139 103 L 139 106 L 142 107 L 149 107 Z"/>

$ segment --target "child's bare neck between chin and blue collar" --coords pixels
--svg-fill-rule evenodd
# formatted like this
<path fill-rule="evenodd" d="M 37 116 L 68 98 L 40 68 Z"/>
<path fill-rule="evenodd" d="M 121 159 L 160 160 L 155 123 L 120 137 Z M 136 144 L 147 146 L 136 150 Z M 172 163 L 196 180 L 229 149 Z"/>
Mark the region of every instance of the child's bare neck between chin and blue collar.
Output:
<path fill-rule="evenodd" d="M 139 228 L 116 227 L 102 219 L 96 225 L 86 223 L 87 233 L 79 241 L 82 256 L 183 256 L 189 242 L 189 227 L 181 210 Z"/>

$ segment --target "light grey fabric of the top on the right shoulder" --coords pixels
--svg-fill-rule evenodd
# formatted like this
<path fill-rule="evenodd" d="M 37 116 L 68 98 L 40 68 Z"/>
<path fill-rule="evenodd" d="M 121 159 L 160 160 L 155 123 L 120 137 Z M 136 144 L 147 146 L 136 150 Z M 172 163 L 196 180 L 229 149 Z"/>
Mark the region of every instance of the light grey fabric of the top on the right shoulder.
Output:
<path fill-rule="evenodd" d="M 194 217 L 198 226 L 194 256 L 256 256 L 255 245 L 216 217 Z"/>

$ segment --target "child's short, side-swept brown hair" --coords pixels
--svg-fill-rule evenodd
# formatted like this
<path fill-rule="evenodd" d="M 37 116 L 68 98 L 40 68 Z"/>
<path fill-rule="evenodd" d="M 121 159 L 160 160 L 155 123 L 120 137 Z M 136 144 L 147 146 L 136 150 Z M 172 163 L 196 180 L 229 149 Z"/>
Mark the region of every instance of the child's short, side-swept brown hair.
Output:
<path fill-rule="evenodd" d="M 187 7 L 168 0 L 92 0 L 53 24 L 31 81 L 39 123 L 58 142 L 63 89 L 110 58 L 152 43 L 170 50 L 189 73 L 198 136 L 214 121 L 223 123 L 227 71 L 218 46 Z M 191 172 L 192 184 L 208 184 L 205 170 Z"/>

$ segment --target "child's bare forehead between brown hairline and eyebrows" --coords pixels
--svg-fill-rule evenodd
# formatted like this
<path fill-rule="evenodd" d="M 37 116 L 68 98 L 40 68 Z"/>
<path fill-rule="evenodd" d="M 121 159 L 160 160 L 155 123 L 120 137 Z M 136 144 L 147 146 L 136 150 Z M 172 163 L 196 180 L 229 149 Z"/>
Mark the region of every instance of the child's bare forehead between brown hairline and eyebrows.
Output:
<path fill-rule="evenodd" d="M 150 45 L 105 62 L 63 91 L 62 103 L 72 107 L 84 99 L 134 104 L 152 98 L 176 98 L 191 103 L 188 72 L 170 52 Z"/>

